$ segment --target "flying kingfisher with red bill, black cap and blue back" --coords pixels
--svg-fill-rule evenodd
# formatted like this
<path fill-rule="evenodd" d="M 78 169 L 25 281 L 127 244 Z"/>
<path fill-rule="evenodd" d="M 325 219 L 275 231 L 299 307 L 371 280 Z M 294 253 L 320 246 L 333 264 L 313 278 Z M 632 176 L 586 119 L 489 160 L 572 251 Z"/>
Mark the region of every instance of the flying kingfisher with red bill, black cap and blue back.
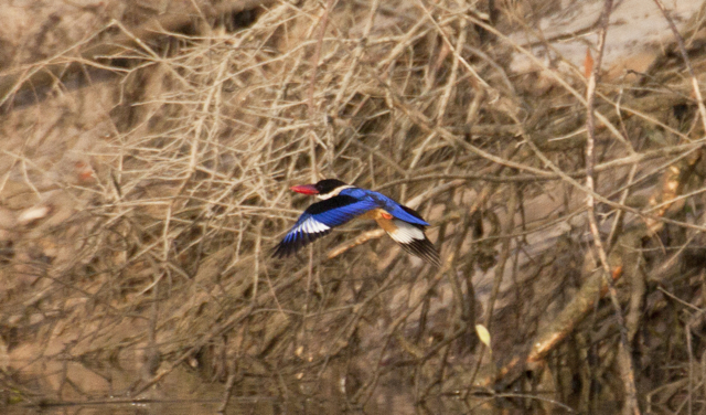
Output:
<path fill-rule="evenodd" d="M 425 234 L 429 226 L 419 213 L 386 195 L 361 189 L 338 179 L 321 180 L 315 184 L 290 188 L 302 194 L 315 194 L 317 202 L 299 216 L 295 226 L 272 252 L 284 258 L 295 254 L 319 237 L 355 217 L 372 219 L 407 253 L 416 255 L 438 267 L 439 252 Z"/>

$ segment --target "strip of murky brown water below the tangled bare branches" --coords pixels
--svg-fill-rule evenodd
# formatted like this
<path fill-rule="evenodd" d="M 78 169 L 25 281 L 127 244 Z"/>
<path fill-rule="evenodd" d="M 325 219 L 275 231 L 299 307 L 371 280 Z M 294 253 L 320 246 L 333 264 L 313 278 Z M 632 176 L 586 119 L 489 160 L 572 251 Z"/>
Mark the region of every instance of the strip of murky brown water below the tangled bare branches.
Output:
<path fill-rule="evenodd" d="M 135 400 L 129 391 L 139 390 L 146 376 L 141 374 L 140 364 L 132 361 L 118 364 L 49 361 L 33 362 L 23 368 L 0 379 L 0 393 L 6 401 L 20 395 L 34 397 L 4 408 L 0 406 L 2 414 L 216 414 L 223 405 L 225 392 L 225 382 L 208 381 L 210 376 L 188 365 L 175 368 L 157 386 Z M 365 411 L 357 411 L 351 407 L 341 390 L 341 373 L 342 368 L 331 364 L 321 376 L 312 374 L 310 380 L 307 376 L 295 380 L 300 376 L 268 371 L 243 374 L 232 390 L 225 414 L 567 413 L 560 405 L 545 405 L 547 402 L 542 404 L 536 397 L 513 402 L 486 395 L 463 403 L 458 397 L 437 396 L 415 405 L 414 385 L 392 380 L 381 380 L 373 396 L 366 401 Z M 40 405 L 39 402 L 46 404 Z"/>

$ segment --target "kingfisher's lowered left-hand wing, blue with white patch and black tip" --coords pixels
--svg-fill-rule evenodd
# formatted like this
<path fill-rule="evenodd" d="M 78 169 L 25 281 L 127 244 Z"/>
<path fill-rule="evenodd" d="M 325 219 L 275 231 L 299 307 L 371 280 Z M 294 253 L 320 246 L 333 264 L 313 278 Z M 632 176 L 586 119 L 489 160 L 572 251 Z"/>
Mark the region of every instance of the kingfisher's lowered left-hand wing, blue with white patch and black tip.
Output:
<path fill-rule="evenodd" d="M 295 226 L 277 245 L 272 256 L 286 257 L 311 242 L 328 234 L 355 216 L 377 208 L 375 201 L 360 200 L 350 195 L 338 195 L 309 206 L 299 216 Z"/>

